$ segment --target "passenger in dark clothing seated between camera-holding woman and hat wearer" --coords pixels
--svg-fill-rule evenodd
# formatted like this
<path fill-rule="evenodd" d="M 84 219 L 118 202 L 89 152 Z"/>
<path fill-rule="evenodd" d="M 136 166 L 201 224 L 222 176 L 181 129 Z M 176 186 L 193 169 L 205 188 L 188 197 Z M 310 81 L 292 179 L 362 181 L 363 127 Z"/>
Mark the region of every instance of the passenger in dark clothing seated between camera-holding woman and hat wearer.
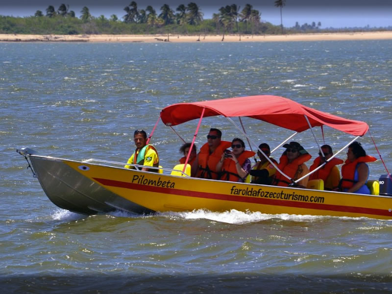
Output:
<path fill-rule="evenodd" d="M 276 166 L 278 165 L 276 160 L 270 157 L 270 146 L 267 143 L 260 144 L 259 149 L 262 150 Z M 270 185 L 276 169 L 260 151 L 257 151 L 257 155 L 259 156 L 260 161 L 250 170 L 250 175 L 252 176 L 251 183 Z"/>

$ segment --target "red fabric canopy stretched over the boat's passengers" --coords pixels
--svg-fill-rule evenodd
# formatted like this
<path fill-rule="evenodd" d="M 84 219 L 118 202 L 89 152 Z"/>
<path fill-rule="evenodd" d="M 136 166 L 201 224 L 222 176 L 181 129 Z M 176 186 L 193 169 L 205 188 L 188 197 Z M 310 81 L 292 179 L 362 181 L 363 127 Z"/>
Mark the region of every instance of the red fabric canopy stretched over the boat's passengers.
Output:
<path fill-rule="evenodd" d="M 199 119 L 203 108 L 205 108 L 203 117 L 216 115 L 225 117 L 244 116 L 297 132 L 309 128 L 305 115 L 312 126 L 328 125 L 354 136 L 363 136 L 368 131 L 367 123 L 343 119 L 301 105 L 288 98 L 272 95 L 172 104 L 162 109 L 161 118 L 166 125 L 177 125 Z"/>

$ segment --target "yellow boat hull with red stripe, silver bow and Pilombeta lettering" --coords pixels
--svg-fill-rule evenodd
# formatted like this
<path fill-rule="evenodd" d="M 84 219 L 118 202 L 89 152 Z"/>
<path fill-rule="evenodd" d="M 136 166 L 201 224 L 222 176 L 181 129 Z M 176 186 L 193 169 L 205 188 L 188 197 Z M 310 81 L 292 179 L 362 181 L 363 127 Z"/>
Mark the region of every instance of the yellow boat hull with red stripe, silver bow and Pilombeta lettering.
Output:
<path fill-rule="evenodd" d="M 180 177 L 45 156 L 31 156 L 31 162 L 49 198 L 56 205 L 79 213 L 115 209 L 136 213 L 236 209 L 266 214 L 392 219 L 392 197 L 388 196 Z M 77 193 L 68 199 L 67 193 L 62 193 L 59 205 L 57 196 L 53 195 L 59 190 Z M 74 205 L 78 201 L 83 203 Z"/>

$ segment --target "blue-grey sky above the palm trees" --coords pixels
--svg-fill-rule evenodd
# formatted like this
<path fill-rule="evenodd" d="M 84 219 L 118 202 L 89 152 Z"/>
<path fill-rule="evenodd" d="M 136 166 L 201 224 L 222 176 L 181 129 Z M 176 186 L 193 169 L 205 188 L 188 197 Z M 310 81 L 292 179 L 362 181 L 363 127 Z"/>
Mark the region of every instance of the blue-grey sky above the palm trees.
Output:
<path fill-rule="evenodd" d="M 32 16 L 37 10 L 46 14 L 46 8 L 52 5 L 56 10 L 61 3 L 69 4 L 76 17 L 80 17 L 83 6 L 87 6 L 91 15 L 104 15 L 110 18 L 112 14 L 121 19 L 125 6 L 132 0 L 0 0 L 0 15 L 15 17 Z M 218 13 L 221 6 L 233 3 L 242 10 L 245 4 L 251 4 L 253 9 L 261 12 L 261 20 L 273 25 L 280 25 L 280 9 L 274 6 L 274 0 L 136 0 L 138 9 L 151 5 L 159 14 L 163 4 L 169 4 L 175 10 L 180 4 L 187 5 L 195 2 L 204 19 L 211 19 L 213 13 Z M 386 27 L 392 26 L 392 0 L 286 0 L 282 9 L 283 25 L 285 27 L 315 22 L 326 27 Z"/>

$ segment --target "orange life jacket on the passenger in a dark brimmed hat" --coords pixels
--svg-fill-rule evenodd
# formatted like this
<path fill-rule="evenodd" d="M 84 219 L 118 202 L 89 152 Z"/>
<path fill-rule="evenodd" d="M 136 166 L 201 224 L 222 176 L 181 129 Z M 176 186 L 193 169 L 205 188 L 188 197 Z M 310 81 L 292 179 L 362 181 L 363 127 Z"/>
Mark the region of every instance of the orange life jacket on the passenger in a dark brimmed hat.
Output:
<path fill-rule="evenodd" d="M 278 168 L 283 173 L 288 175 L 290 178 L 293 178 L 295 173 L 298 170 L 298 167 L 301 164 L 303 164 L 304 162 L 307 162 L 311 158 L 312 158 L 312 155 L 310 155 L 309 153 L 306 153 L 306 154 L 302 154 L 302 155 L 298 156 L 291 163 L 289 163 L 289 159 L 287 158 L 287 155 L 284 154 L 279 159 Z M 290 184 L 291 184 L 291 182 L 290 182 L 290 180 L 287 177 L 285 177 L 279 171 L 276 171 L 275 178 L 274 178 L 274 180 L 272 182 L 272 185 L 274 185 L 274 186 L 281 186 L 281 187 L 287 187 Z"/>

